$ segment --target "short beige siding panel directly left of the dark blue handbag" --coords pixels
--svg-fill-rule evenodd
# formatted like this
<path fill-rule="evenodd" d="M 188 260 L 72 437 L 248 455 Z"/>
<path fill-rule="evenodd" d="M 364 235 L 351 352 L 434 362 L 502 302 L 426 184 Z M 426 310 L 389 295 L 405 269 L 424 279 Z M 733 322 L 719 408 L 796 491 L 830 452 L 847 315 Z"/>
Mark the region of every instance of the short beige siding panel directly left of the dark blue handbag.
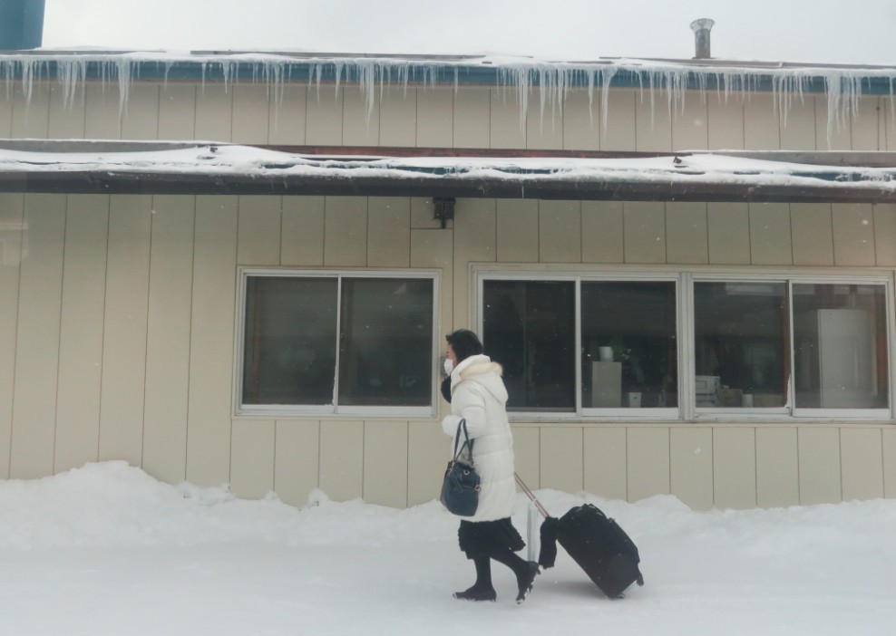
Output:
<path fill-rule="evenodd" d="M 407 505 L 417 506 L 439 497 L 443 466 L 451 455 L 451 441 L 438 422 L 409 422 L 407 436 Z"/>

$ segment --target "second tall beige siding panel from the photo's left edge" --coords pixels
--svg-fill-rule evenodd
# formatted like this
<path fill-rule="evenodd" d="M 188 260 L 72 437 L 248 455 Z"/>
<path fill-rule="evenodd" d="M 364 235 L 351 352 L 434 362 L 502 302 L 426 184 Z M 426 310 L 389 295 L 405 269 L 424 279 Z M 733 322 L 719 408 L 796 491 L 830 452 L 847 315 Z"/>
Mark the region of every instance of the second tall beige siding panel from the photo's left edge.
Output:
<path fill-rule="evenodd" d="M 19 276 L 9 477 L 53 474 L 65 197 L 25 195 L 28 257 Z"/>

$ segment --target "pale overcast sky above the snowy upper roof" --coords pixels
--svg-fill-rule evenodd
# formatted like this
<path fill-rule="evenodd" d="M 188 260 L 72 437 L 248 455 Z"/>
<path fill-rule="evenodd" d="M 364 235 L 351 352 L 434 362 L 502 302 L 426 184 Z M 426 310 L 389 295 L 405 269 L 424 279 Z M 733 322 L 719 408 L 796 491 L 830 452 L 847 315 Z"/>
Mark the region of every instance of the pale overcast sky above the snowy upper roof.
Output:
<path fill-rule="evenodd" d="M 44 47 L 896 63 L 896 0 L 46 0 Z"/>

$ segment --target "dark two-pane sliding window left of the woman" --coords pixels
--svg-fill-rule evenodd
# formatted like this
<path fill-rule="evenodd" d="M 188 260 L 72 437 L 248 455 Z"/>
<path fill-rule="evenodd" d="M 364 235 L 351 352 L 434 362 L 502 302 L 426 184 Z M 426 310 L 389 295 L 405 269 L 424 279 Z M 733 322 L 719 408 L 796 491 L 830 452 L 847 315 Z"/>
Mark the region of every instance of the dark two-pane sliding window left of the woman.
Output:
<path fill-rule="evenodd" d="M 247 271 L 243 287 L 241 411 L 431 414 L 434 276 Z"/>

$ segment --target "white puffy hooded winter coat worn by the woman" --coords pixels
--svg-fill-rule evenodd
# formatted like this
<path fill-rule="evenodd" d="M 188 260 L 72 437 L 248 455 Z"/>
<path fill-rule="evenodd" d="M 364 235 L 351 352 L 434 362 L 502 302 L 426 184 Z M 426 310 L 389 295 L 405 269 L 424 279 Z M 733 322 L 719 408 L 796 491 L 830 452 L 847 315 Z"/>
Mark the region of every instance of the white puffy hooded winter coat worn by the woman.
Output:
<path fill-rule="evenodd" d="M 452 438 L 461 419 L 473 440 L 472 459 L 482 477 L 476 515 L 468 521 L 494 521 L 511 516 L 516 497 L 513 480 L 513 436 L 507 421 L 507 389 L 501 365 L 486 355 L 472 355 L 451 374 L 451 415 L 442 429 Z M 463 438 L 463 434 L 462 434 Z"/>

